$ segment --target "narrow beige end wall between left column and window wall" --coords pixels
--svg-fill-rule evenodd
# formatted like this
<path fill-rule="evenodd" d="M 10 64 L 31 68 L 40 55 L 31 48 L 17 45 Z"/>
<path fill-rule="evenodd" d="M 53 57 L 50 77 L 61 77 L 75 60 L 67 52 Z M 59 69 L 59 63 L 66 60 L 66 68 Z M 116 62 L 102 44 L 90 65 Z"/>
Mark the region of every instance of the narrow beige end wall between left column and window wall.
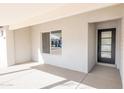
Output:
<path fill-rule="evenodd" d="M 31 61 L 31 31 L 30 28 L 14 30 L 15 63 Z"/>

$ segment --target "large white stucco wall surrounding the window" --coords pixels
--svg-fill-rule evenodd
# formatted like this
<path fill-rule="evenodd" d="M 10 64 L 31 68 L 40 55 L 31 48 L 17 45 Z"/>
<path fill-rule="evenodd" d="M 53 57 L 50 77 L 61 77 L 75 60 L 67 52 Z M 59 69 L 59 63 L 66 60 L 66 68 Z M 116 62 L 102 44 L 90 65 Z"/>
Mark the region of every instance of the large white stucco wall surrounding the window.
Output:
<path fill-rule="evenodd" d="M 32 58 L 39 60 L 40 49 L 42 51 L 42 32 L 62 30 L 62 55 L 41 53 L 46 64 L 52 64 L 77 71 L 87 71 L 86 34 L 82 27 L 82 18 L 69 17 L 36 26 L 32 26 Z"/>

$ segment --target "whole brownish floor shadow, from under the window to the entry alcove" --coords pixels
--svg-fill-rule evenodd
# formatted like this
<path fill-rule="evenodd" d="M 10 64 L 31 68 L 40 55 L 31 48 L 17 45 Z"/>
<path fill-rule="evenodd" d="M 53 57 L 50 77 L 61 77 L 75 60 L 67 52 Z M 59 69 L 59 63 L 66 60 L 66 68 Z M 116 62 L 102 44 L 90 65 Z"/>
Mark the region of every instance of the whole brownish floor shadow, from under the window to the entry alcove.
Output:
<path fill-rule="evenodd" d="M 87 86 L 91 86 L 98 89 L 121 89 L 122 88 L 119 71 L 113 67 L 96 65 L 92 69 L 92 71 L 88 74 L 81 73 L 78 71 L 63 69 L 60 67 L 51 66 L 47 64 L 34 66 L 32 67 L 32 69 L 37 69 L 53 75 L 64 77 L 67 80 L 78 82 L 80 85 L 81 84 L 87 85 Z M 51 88 L 63 82 L 67 82 L 67 81 L 58 82 L 57 84 L 52 84 L 50 85 L 50 87 L 47 86 L 44 88 Z"/>

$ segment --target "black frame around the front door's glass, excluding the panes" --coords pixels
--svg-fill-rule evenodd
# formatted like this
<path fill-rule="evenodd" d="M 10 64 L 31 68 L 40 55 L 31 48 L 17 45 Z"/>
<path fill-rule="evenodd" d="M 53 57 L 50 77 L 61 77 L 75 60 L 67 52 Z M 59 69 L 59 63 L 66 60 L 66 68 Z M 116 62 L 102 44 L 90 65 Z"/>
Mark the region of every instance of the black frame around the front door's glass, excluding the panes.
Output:
<path fill-rule="evenodd" d="M 114 62 L 113 64 L 112 63 L 104 63 L 104 62 L 99 62 L 98 60 L 99 60 L 99 41 L 98 41 L 98 39 L 100 39 L 100 37 L 98 36 L 98 31 L 113 31 L 112 32 L 112 35 L 113 35 L 113 41 L 112 42 L 114 42 L 113 43 L 113 47 L 112 47 L 112 53 L 113 53 L 113 55 L 112 55 L 112 61 Z M 115 60 L 115 57 L 116 57 L 116 28 L 103 28 L 103 29 L 97 29 L 97 63 L 98 64 L 107 64 L 107 65 L 116 65 L 116 60 Z"/>

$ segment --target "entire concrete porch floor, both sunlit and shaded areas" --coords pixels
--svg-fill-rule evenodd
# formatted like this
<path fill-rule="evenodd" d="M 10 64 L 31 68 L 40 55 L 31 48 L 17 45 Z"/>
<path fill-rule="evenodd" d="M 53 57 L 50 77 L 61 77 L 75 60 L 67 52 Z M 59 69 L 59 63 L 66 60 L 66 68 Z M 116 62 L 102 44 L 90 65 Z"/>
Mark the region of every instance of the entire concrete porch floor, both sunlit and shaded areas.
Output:
<path fill-rule="evenodd" d="M 37 62 L 0 69 L 0 88 L 17 89 L 119 89 L 119 71 L 96 65 L 88 73 L 68 70 Z"/>

